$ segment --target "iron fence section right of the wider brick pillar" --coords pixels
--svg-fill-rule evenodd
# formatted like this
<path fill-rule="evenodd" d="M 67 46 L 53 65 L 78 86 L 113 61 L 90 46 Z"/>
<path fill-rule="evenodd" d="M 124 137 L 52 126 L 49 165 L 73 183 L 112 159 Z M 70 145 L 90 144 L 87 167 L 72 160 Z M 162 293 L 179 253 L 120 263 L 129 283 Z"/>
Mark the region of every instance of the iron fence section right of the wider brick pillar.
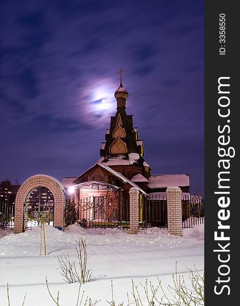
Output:
<path fill-rule="evenodd" d="M 182 200 L 182 227 L 204 224 L 204 197 L 195 194 Z"/>

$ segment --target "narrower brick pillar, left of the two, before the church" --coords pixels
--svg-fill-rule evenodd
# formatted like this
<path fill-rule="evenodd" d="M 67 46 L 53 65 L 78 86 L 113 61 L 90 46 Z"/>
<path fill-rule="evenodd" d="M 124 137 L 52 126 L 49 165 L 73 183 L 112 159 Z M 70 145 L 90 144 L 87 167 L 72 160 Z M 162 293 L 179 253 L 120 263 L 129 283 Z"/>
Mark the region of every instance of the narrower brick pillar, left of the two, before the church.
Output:
<path fill-rule="evenodd" d="M 139 226 L 139 191 L 136 187 L 129 190 L 130 195 L 130 231 L 129 234 L 137 234 Z"/>

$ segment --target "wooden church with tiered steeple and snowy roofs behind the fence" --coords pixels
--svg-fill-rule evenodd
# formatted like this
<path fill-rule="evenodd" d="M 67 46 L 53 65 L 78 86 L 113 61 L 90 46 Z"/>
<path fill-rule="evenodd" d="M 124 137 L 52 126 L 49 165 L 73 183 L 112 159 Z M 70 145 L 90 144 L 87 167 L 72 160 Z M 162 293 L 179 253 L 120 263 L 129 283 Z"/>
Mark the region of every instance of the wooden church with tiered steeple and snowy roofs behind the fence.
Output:
<path fill-rule="evenodd" d="M 155 210 L 154 202 L 166 200 L 167 187 L 178 186 L 182 198 L 189 197 L 189 175 L 151 175 L 152 168 L 144 159 L 143 141 L 133 125 L 133 115 L 126 112 L 129 93 L 123 86 L 122 71 L 119 71 L 120 85 L 114 93 L 116 113 L 110 118 L 110 127 L 100 147 L 100 159 L 78 177 L 62 180 L 66 192 L 75 200 L 80 224 L 86 227 L 99 226 L 100 222 L 110 227 L 116 221 L 128 222 L 132 187 L 139 192 L 140 222 L 151 219 L 143 203 L 152 201 L 148 210 Z M 156 214 L 164 215 L 164 205 L 156 206 Z M 164 218 L 153 218 L 160 222 L 155 225 L 164 226 Z"/>

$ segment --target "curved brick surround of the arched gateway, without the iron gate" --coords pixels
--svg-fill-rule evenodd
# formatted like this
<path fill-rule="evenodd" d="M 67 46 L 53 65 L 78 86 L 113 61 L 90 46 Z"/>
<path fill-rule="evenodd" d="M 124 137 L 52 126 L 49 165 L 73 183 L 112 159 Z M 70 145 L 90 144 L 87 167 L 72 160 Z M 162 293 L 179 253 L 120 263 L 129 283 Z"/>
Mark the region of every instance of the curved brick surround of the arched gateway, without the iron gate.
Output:
<path fill-rule="evenodd" d="M 28 193 L 39 186 L 48 188 L 54 196 L 54 226 L 64 227 L 66 195 L 63 185 L 53 176 L 36 174 L 27 179 L 19 188 L 15 200 L 14 233 L 23 228 L 23 206 Z"/>

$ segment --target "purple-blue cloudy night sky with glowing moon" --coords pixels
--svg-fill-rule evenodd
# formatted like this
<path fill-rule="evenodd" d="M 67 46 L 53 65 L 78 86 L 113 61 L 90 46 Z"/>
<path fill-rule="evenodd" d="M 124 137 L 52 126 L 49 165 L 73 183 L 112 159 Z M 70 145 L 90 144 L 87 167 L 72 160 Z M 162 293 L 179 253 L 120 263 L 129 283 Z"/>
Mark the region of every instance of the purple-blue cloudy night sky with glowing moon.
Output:
<path fill-rule="evenodd" d="M 0 29 L 0 181 L 95 164 L 122 67 L 152 174 L 203 194 L 203 0 L 8 0 Z"/>

